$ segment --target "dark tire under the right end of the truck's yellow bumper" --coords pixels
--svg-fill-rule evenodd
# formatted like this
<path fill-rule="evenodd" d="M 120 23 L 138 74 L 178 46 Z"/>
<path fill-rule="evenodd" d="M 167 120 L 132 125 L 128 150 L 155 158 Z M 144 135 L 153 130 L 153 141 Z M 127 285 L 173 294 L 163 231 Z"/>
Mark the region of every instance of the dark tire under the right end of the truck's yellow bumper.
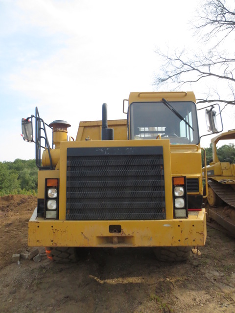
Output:
<path fill-rule="evenodd" d="M 191 246 L 160 246 L 153 251 L 158 261 L 182 262 L 188 260 L 191 254 Z"/>

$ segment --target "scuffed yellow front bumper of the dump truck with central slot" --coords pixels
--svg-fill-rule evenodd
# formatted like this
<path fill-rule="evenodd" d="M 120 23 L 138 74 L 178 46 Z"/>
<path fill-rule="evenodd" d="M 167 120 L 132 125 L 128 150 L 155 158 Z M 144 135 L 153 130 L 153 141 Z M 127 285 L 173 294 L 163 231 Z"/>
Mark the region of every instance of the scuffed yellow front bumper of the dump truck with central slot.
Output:
<path fill-rule="evenodd" d="M 36 217 L 28 224 L 29 246 L 204 246 L 207 236 L 205 209 L 197 216 L 161 221 L 52 221 Z M 110 225 L 120 233 L 110 233 Z"/>

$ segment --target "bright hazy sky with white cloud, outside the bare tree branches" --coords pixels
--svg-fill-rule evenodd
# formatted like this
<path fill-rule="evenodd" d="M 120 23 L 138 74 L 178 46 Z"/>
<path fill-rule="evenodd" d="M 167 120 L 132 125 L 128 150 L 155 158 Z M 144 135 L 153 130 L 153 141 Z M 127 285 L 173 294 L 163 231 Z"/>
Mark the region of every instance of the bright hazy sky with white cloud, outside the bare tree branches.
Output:
<path fill-rule="evenodd" d="M 0 0 L 0 161 L 35 158 L 34 144 L 21 136 L 21 119 L 35 107 L 47 124 L 70 123 L 72 137 L 80 121 L 101 120 L 104 102 L 108 119 L 125 119 L 122 100 L 131 91 L 154 91 L 156 47 L 195 45 L 189 21 L 198 4 Z M 230 111 L 223 112 L 224 130 L 234 128 Z M 199 128 L 205 133 L 204 117 Z"/>

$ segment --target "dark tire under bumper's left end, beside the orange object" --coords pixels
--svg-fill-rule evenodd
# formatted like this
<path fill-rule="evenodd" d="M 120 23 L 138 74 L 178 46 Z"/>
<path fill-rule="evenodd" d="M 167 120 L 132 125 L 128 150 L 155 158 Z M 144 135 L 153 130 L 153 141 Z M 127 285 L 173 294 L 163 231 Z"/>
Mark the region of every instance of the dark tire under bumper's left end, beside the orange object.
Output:
<path fill-rule="evenodd" d="M 76 253 L 73 247 L 46 247 L 47 258 L 57 263 L 72 263 L 76 262 Z"/>

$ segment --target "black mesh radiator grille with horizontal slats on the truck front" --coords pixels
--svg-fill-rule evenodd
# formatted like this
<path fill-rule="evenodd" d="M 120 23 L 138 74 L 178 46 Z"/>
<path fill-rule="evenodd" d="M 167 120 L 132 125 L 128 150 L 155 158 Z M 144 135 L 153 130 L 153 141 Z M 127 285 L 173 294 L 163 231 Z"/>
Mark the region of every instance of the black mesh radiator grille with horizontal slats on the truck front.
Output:
<path fill-rule="evenodd" d="M 68 148 L 66 219 L 165 219 L 163 148 Z"/>

